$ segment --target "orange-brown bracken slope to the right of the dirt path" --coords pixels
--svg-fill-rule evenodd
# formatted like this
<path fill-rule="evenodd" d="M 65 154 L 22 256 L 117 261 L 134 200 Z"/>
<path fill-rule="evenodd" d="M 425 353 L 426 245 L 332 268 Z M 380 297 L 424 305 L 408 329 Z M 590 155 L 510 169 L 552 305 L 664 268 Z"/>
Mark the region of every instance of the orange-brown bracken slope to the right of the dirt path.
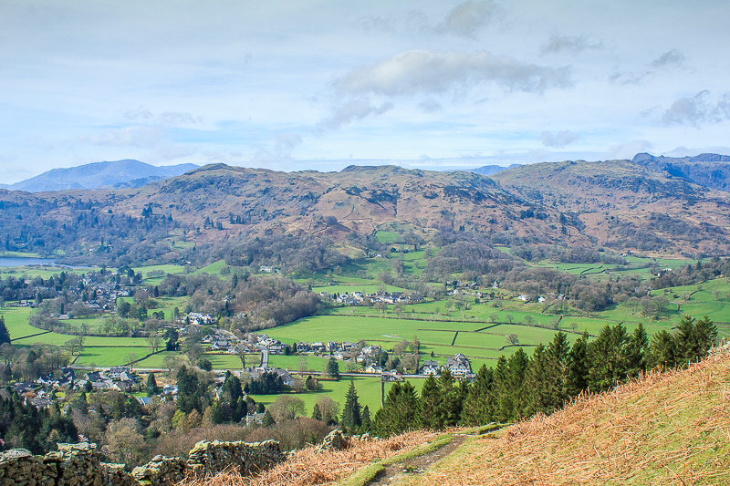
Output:
<path fill-rule="evenodd" d="M 652 372 L 496 438 L 407 484 L 730 484 L 730 357 Z"/>

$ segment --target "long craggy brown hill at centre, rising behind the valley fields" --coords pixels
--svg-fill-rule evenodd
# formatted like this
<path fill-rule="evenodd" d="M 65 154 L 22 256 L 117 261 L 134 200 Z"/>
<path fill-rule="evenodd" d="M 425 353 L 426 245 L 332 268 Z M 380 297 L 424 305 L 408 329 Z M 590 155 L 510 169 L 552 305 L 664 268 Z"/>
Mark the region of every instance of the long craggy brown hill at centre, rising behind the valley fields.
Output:
<path fill-rule="evenodd" d="M 145 186 L 118 203 L 116 211 L 137 213 L 150 203 L 173 204 L 173 219 L 193 227 L 210 218 L 223 220 L 224 229 L 234 232 L 370 234 L 390 222 L 491 232 L 514 227 L 521 235 L 547 231 L 547 217 L 520 219 L 520 212 L 533 205 L 487 177 L 387 165 L 282 172 L 212 164 Z M 210 236 L 219 237 L 216 233 Z"/>

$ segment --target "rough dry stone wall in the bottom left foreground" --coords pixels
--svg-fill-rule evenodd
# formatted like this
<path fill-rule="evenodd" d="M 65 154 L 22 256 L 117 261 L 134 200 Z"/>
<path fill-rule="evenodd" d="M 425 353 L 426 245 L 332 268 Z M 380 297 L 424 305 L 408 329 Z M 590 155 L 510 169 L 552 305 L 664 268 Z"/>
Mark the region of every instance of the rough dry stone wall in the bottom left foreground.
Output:
<path fill-rule="evenodd" d="M 156 456 L 129 473 L 123 464 L 102 462 L 95 444 L 58 444 L 57 452 L 45 456 L 24 449 L 0 452 L 0 486 L 167 486 L 223 470 L 266 470 L 285 459 L 275 440 L 201 441 L 188 460 Z"/>

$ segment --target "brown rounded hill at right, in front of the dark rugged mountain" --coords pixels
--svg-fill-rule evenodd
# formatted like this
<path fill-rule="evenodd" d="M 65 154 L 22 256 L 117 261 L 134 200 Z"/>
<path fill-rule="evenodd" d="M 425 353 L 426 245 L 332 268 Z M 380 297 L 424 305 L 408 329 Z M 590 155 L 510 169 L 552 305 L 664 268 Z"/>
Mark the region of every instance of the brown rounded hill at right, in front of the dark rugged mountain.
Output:
<path fill-rule="evenodd" d="M 600 245 L 642 252 L 730 252 L 727 192 L 631 160 L 545 162 L 492 177 L 516 197 L 562 212 L 564 222 Z"/>

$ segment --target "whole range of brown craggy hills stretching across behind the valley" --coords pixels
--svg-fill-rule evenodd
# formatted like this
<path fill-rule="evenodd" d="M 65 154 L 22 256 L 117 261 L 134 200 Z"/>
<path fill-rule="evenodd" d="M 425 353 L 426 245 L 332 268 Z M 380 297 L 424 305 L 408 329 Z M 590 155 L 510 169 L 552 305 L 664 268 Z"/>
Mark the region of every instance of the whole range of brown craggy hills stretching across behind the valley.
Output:
<path fill-rule="evenodd" d="M 347 244 L 350 234 L 398 227 L 424 238 L 446 229 L 486 234 L 495 244 L 724 255 L 730 254 L 730 192 L 725 191 L 730 164 L 725 160 L 720 155 L 639 154 L 633 160 L 521 165 L 491 177 L 397 166 L 283 172 L 211 164 L 141 187 L 36 194 L 0 190 L 0 237 L 10 246 L 42 250 L 34 242 L 53 247 L 62 233 L 57 236 L 52 228 L 81 217 L 112 228 L 114 223 L 106 221 L 111 215 L 145 221 L 154 215 L 182 228 L 196 245 L 289 233 L 328 235 Z M 30 213 L 36 218 L 28 219 Z M 108 230 L 88 223 L 79 233 L 79 252 L 108 239 L 102 234 Z M 162 254 L 164 241 L 156 238 Z M 165 258 L 173 260 L 172 233 L 170 239 Z"/>

